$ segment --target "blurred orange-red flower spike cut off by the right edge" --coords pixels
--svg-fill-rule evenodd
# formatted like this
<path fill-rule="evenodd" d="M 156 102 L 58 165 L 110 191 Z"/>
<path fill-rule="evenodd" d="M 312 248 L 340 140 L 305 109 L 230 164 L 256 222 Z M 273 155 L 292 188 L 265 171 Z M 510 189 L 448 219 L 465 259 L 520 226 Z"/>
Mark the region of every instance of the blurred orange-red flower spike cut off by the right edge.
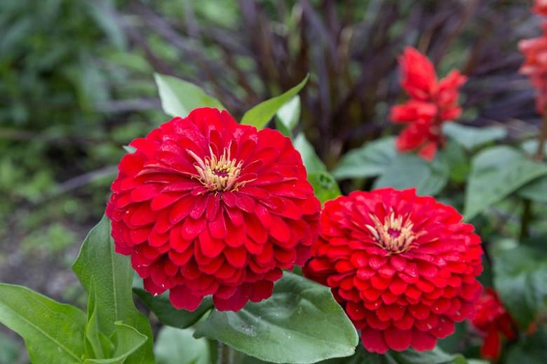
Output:
<path fill-rule="evenodd" d="M 518 43 L 525 56 L 520 73 L 527 75 L 536 89 L 536 111 L 539 114 L 543 114 L 547 106 L 547 22 L 543 22 L 542 27 L 541 36 Z"/>

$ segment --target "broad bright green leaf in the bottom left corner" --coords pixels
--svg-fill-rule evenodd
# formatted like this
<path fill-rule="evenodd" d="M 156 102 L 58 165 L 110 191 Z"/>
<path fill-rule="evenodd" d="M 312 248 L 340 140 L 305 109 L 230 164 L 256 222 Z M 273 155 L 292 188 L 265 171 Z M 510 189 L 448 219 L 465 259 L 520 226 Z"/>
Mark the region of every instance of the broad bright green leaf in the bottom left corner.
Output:
<path fill-rule="evenodd" d="M 0 323 L 25 339 L 34 364 L 82 363 L 86 316 L 76 307 L 0 283 Z"/>

